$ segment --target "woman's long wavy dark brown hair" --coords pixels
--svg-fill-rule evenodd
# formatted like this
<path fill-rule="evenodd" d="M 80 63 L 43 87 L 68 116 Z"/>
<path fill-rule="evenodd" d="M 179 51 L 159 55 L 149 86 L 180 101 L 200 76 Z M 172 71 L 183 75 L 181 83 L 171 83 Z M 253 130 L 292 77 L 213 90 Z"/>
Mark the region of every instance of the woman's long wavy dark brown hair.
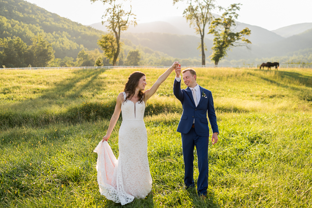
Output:
<path fill-rule="evenodd" d="M 144 73 L 142 72 L 133 72 L 129 78 L 128 78 L 128 82 L 126 83 L 126 85 L 124 86 L 124 92 L 127 93 L 127 97 L 124 100 L 124 102 L 129 98 L 134 96 L 135 94 L 135 89 L 139 84 L 140 79 L 145 76 Z M 141 103 L 144 99 L 144 92 L 142 92 L 142 90 L 139 91 L 139 102 Z"/>

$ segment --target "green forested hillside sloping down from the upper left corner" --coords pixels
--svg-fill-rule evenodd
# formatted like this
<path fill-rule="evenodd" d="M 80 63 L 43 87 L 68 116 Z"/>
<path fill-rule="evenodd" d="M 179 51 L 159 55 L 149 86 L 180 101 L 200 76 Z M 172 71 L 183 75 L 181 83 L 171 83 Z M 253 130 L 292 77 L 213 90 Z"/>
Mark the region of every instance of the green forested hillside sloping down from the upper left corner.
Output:
<path fill-rule="evenodd" d="M 52 44 L 55 58 L 77 57 L 84 48 L 94 50 L 103 34 L 23 0 L 0 0 L 0 38 L 16 36 L 30 45 L 37 33 Z"/>

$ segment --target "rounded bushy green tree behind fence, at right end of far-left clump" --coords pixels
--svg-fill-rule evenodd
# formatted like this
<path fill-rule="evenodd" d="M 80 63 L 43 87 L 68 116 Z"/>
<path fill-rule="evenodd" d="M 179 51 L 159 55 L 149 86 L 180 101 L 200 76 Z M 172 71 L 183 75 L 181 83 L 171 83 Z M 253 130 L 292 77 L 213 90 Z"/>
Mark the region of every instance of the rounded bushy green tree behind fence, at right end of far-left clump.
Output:
<path fill-rule="evenodd" d="M 46 67 L 50 61 L 54 59 L 53 47 L 51 43 L 43 38 L 42 34 L 38 34 L 32 38 L 31 52 L 33 55 L 34 67 Z"/>

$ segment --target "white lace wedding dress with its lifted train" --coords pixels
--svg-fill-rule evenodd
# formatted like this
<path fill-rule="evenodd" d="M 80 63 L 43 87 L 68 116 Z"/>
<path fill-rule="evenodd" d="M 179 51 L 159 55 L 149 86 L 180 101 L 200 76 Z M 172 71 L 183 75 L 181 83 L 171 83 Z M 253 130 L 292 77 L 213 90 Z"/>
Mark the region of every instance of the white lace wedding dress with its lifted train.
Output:
<path fill-rule="evenodd" d="M 98 154 L 96 170 L 100 193 L 122 205 L 133 201 L 134 197 L 143 199 L 152 190 L 144 110 L 144 102 L 134 104 L 127 100 L 121 104 L 118 160 L 106 141 L 100 141 L 94 150 Z"/>

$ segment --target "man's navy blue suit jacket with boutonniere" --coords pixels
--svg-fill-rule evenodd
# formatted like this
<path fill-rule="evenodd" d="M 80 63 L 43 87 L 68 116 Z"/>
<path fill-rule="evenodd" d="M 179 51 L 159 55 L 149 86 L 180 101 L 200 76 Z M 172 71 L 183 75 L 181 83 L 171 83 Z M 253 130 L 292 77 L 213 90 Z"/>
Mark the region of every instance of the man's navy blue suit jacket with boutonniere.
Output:
<path fill-rule="evenodd" d="M 217 117 L 213 106 L 212 93 L 211 91 L 200 86 L 199 88 L 201 97 L 196 107 L 191 89 L 188 87 L 185 90 L 181 89 L 181 81 L 178 82 L 176 79 L 174 79 L 173 94 L 176 98 L 178 98 L 183 106 L 183 112 L 177 131 L 183 134 L 187 134 L 191 130 L 193 121 L 195 119 L 194 126 L 196 134 L 199 136 L 209 136 L 207 120 L 208 112 L 208 118 L 212 132 L 219 133 Z M 202 96 L 203 93 L 206 96 Z"/>

